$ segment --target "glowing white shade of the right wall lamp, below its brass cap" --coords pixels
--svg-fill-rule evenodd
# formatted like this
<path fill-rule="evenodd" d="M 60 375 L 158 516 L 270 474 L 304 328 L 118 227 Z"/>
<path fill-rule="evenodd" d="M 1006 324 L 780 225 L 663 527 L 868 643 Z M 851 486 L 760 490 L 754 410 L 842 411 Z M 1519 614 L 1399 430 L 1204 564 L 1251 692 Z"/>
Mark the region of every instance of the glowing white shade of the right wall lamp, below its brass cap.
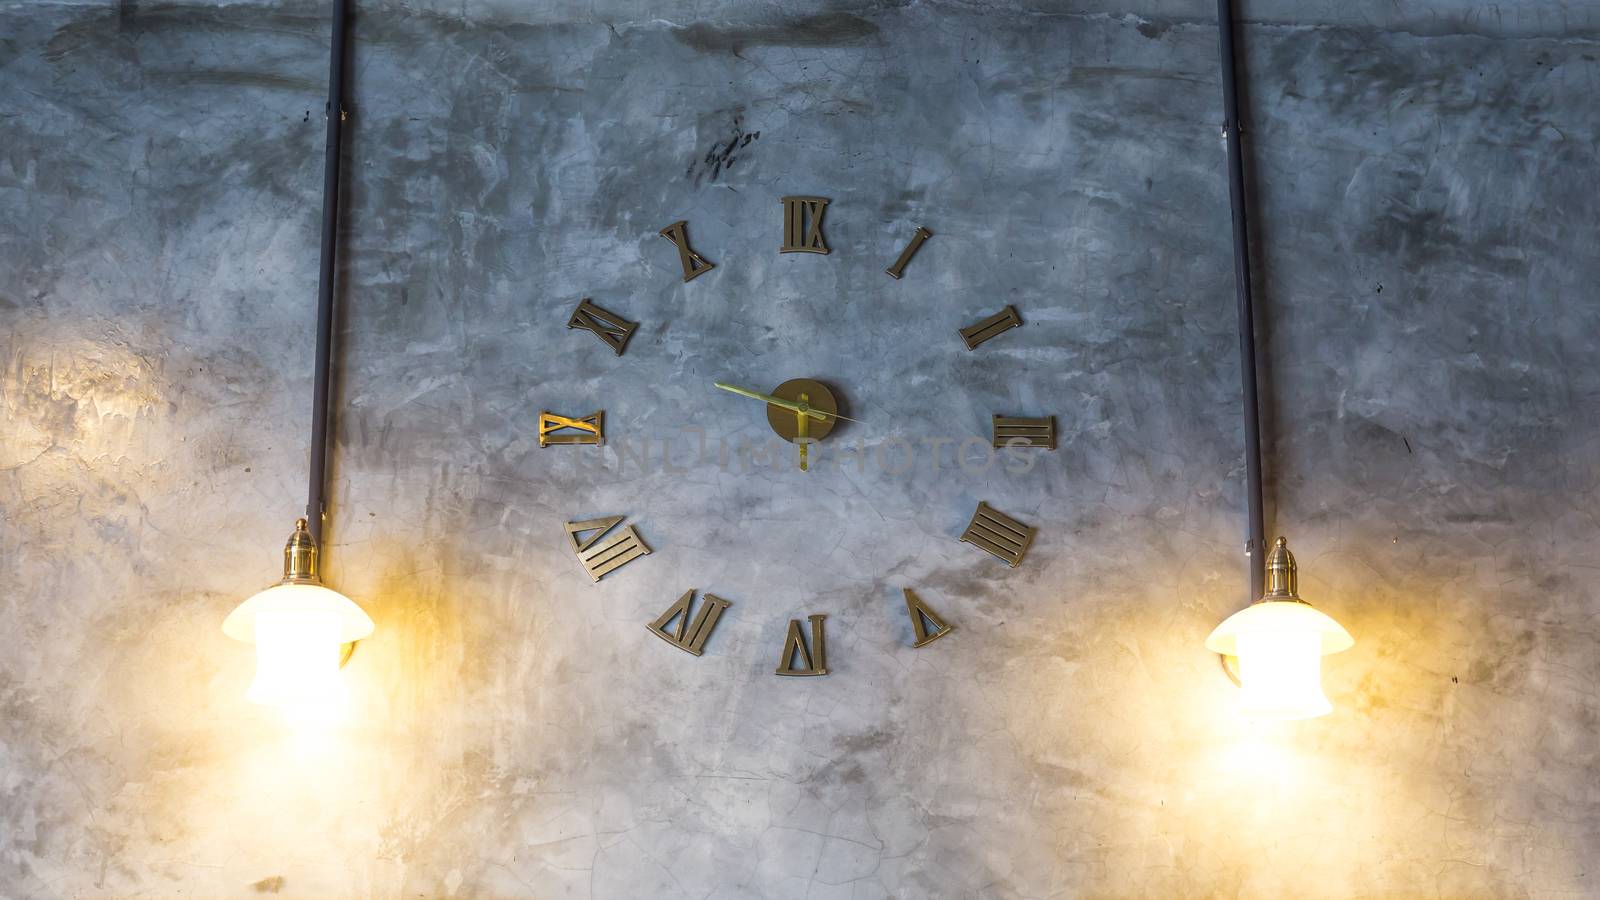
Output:
<path fill-rule="evenodd" d="M 1338 621 L 1296 601 L 1261 602 L 1230 615 L 1206 649 L 1238 657 L 1238 711 L 1258 719 L 1310 719 L 1333 711 L 1322 657 L 1355 644 Z"/>

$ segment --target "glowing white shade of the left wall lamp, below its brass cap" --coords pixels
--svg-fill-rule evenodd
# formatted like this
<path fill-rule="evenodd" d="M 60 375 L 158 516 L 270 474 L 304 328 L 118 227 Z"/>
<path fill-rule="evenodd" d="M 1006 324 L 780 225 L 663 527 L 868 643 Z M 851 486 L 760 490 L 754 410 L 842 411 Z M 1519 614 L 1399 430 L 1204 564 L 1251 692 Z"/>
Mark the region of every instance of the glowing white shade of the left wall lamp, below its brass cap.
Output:
<path fill-rule="evenodd" d="M 256 645 L 246 700 L 317 721 L 346 700 L 341 645 L 371 634 L 373 620 L 322 585 L 274 585 L 229 613 L 222 633 Z"/>

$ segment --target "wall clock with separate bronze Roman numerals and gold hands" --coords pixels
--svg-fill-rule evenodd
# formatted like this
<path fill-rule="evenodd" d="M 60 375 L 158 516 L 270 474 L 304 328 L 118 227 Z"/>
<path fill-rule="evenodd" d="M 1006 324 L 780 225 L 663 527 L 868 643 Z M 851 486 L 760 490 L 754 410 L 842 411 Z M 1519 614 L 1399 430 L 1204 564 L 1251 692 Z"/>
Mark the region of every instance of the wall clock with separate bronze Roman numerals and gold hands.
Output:
<path fill-rule="evenodd" d="M 781 219 L 773 223 L 774 235 L 781 234 L 778 253 L 811 253 L 830 256 L 826 223 L 830 211 L 830 200 L 826 197 L 781 197 Z M 837 213 L 835 213 L 837 215 Z M 677 251 L 677 263 L 685 283 L 694 282 L 720 264 L 707 259 L 691 243 L 691 223 L 678 219 L 658 232 Z M 893 261 L 883 269 L 885 275 L 894 280 L 915 275 L 912 266 L 918 251 L 933 237 L 933 231 L 917 226 L 906 243 L 893 255 Z M 827 264 L 854 264 L 834 256 Z M 874 261 L 877 264 L 878 261 Z M 696 288 L 685 288 L 693 291 Z M 944 352 L 981 352 L 981 348 L 994 340 L 1005 340 L 1005 335 L 1022 325 L 1022 317 L 1014 306 L 1005 306 L 992 315 L 978 322 L 957 323 L 944 333 Z M 566 320 L 566 328 L 590 331 L 614 356 L 629 352 L 629 340 L 638 328 L 637 322 L 613 312 L 590 298 L 584 298 L 573 309 Z M 965 349 L 963 349 L 965 348 Z M 936 344 L 930 344 L 931 352 L 939 352 Z M 640 351 L 634 351 L 640 352 Z M 626 370 L 624 378 L 626 378 Z M 731 375 L 730 375 L 731 378 Z M 813 472 L 813 463 L 821 453 L 819 445 L 840 428 L 862 429 L 870 432 L 872 421 L 851 418 L 845 407 L 845 396 L 840 384 L 816 373 L 787 378 L 771 384 L 736 384 L 733 381 L 715 381 L 707 386 L 709 392 L 720 394 L 725 412 L 730 416 L 755 416 L 760 412 L 773 436 L 789 447 L 789 463 L 795 469 L 806 472 L 805 477 L 826 477 Z M 731 394 L 731 397 L 730 397 Z M 915 415 L 915 410 L 907 410 Z M 992 413 L 994 448 L 1011 452 L 1040 452 L 1056 448 L 1054 416 L 1014 416 Z M 605 444 L 606 416 L 605 410 L 578 415 L 576 410 L 539 413 L 539 447 L 589 445 Z M 776 460 L 774 460 L 776 463 Z M 819 522 L 826 528 L 826 522 Z M 645 530 L 645 533 L 640 532 Z M 627 520 L 627 511 L 613 511 L 595 519 L 566 522 L 565 532 L 570 549 L 582 567 L 584 573 L 598 585 L 603 578 L 616 573 L 626 565 L 650 565 L 643 560 L 653 551 L 645 541 L 648 522 L 635 524 Z M 960 543 L 970 544 L 974 551 L 982 551 L 995 560 L 1010 567 L 1018 567 L 1027 556 L 1034 543 L 1035 528 L 1026 522 L 989 506 L 978 503 L 971 520 L 960 533 Z M 974 552 L 976 556 L 976 552 Z M 981 559 L 974 562 L 982 562 Z M 989 564 L 989 562 L 982 562 Z M 950 634 L 955 625 L 936 612 L 912 585 L 902 585 L 906 599 L 907 629 L 912 647 L 926 647 L 934 641 Z M 656 637 L 691 657 L 715 653 L 715 629 L 728 615 L 736 615 L 730 601 L 712 591 L 698 586 L 678 586 L 677 599 L 672 601 L 654 620 L 643 623 Z M 805 610 L 789 620 L 781 647 L 773 647 L 778 653 L 774 674 L 779 676 L 826 676 L 829 674 L 827 657 L 827 612 Z"/>

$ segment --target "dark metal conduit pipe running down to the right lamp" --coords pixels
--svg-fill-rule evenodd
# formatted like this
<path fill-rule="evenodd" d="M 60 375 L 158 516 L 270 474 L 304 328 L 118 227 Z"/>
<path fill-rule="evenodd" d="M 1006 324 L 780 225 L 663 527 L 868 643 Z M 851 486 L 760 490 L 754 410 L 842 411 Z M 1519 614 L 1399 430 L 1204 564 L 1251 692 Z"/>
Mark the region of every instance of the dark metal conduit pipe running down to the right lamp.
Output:
<path fill-rule="evenodd" d="M 1234 285 L 1238 296 L 1238 373 L 1245 405 L 1245 482 L 1250 506 L 1250 602 L 1266 593 L 1262 567 L 1266 514 L 1261 498 L 1261 400 L 1256 391 L 1256 307 L 1250 293 L 1250 226 L 1245 215 L 1245 162 L 1240 149 L 1238 83 L 1234 58 L 1234 3 L 1216 0 L 1222 54 L 1222 131 L 1227 139 L 1227 199 L 1234 210 Z"/>

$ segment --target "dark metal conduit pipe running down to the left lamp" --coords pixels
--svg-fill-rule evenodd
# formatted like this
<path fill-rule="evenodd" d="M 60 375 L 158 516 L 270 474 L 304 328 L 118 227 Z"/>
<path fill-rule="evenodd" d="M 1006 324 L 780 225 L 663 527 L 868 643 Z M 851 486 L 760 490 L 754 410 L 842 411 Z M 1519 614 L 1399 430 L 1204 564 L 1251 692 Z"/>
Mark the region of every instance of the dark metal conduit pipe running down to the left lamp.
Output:
<path fill-rule="evenodd" d="M 317 365 L 312 384 L 310 490 L 306 519 L 322 548 L 323 488 L 328 480 L 328 397 L 333 391 L 333 288 L 339 243 L 339 167 L 344 151 L 344 26 L 346 0 L 333 0 L 333 35 L 328 53 L 328 146 L 322 168 L 322 269 L 317 280 Z M 326 548 L 322 548 L 326 559 Z"/>

